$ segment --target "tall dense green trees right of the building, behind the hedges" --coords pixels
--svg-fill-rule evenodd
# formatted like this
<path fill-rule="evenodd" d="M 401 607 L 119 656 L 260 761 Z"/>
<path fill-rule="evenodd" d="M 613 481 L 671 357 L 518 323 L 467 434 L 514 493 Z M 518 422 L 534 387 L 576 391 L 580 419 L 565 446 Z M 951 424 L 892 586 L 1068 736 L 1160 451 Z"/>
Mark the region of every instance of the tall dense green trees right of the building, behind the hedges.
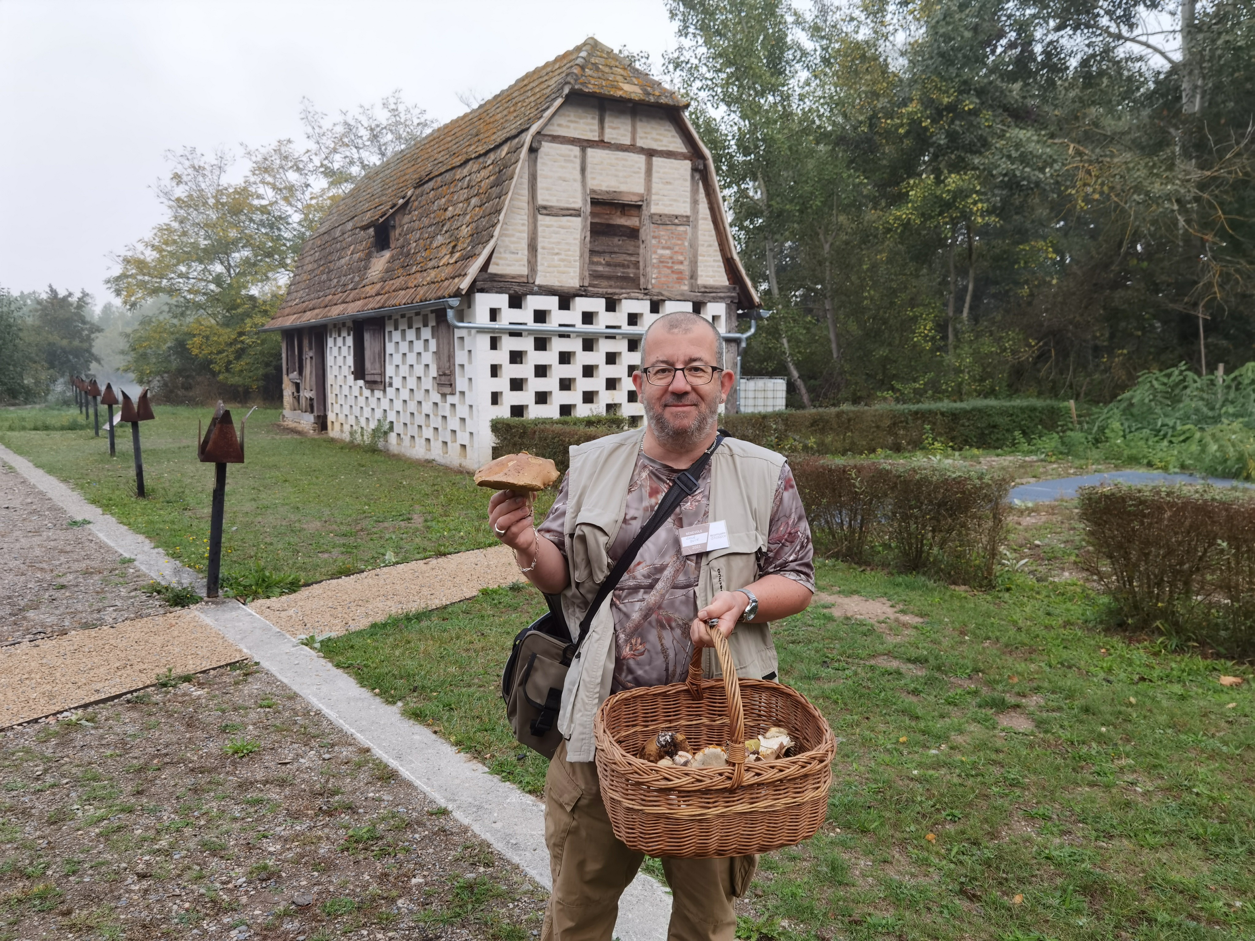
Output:
<path fill-rule="evenodd" d="M 774 311 L 745 371 L 788 375 L 791 407 L 1103 401 L 1199 364 L 1200 317 L 1207 361 L 1250 358 L 1250 0 L 668 8 Z M 1182 11 L 1183 58 L 1156 53 L 1138 24 Z"/>

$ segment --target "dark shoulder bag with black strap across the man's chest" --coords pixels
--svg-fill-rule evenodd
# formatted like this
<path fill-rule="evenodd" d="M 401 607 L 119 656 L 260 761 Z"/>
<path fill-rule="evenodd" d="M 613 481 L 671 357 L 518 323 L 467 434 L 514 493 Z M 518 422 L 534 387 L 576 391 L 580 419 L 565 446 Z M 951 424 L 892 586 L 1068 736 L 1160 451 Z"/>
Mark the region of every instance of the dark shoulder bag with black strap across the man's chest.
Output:
<path fill-rule="evenodd" d="M 562 708 L 566 673 L 584 644 L 584 639 L 589 636 L 592 619 L 610 592 L 619 585 L 619 580 L 636 561 L 636 553 L 640 552 L 641 547 L 649 542 L 649 538 L 658 532 L 663 523 L 671 518 L 671 513 L 675 512 L 675 507 L 684 497 L 697 493 L 702 472 L 710 462 L 710 455 L 723 443 L 724 437 L 720 430 L 714 444 L 692 467 L 675 476 L 675 482 L 666 491 L 658 509 L 615 562 L 606 580 L 601 582 L 596 597 L 589 605 L 589 611 L 580 621 L 580 634 L 574 642 L 556 595 L 545 596 L 548 602 L 548 614 L 530 624 L 515 637 L 510 660 L 506 661 L 506 669 L 501 676 L 501 698 L 506 700 L 506 716 L 515 730 L 515 738 L 521 744 L 540 752 L 546 758 L 552 758 L 553 753 L 557 752 L 558 743 L 562 740 L 562 734 L 557 730 L 557 714 Z"/>

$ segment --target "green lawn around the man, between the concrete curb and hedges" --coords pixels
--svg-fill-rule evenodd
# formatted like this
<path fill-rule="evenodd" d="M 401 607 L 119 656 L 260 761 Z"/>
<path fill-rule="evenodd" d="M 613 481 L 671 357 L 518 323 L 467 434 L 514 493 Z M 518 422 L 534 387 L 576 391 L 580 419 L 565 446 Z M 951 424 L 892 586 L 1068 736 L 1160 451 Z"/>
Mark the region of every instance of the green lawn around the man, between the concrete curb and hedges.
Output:
<path fill-rule="evenodd" d="M 1097 631 L 1076 581 L 974 595 L 838 565 L 818 581 L 926 620 L 892 637 L 817 601 L 778 626 L 783 680 L 840 744 L 828 823 L 762 862 L 763 937 L 1255 936 L 1250 670 Z M 538 793 L 497 684 L 541 611 L 530 588 L 487 590 L 323 651 Z"/>

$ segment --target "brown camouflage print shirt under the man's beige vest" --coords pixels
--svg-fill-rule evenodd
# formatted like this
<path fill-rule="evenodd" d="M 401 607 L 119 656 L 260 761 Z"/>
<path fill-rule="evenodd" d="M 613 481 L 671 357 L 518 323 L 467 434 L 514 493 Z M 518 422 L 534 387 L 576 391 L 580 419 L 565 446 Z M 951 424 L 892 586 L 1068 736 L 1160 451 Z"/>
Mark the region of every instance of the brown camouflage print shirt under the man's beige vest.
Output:
<path fill-rule="evenodd" d="M 624 524 L 610 546 L 610 565 L 636 538 L 671 487 L 676 468 L 636 455 L 628 486 L 628 511 Z M 540 526 L 540 534 L 566 555 L 563 527 L 567 508 L 567 481 Z M 678 528 L 710 522 L 710 465 L 702 472 L 700 488 L 680 501 L 669 523 L 659 527 L 610 596 L 615 617 L 615 679 L 612 691 L 634 686 L 679 683 L 693 655 L 689 625 L 698 614 L 697 587 L 703 555 L 680 552 Z M 814 591 L 814 566 L 811 561 L 811 527 L 793 483 L 788 464 L 781 468 L 772 503 L 767 546 L 758 552 L 758 572 L 783 575 Z"/>

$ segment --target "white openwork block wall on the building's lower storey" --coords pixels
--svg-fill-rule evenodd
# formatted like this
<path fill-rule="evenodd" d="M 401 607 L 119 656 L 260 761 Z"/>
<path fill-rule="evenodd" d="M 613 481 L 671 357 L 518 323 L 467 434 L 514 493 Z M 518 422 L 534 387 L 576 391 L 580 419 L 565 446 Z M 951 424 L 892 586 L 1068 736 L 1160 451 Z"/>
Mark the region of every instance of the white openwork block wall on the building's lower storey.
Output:
<path fill-rule="evenodd" d="M 575 415 L 604 415 L 611 405 L 640 422 L 644 410 L 639 403 L 629 400 L 635 398 L 629 366 L 640 365 L 636 338 L 545 335 L 541 339 L 546 349 L 538 350 L 536 339 L 540 335 L 528 332 L 527 327 L 541 311 L 547 311 L 548 325 L 590 326 L 582 322 L 587 312 L 592 316 L 591 326 L 645 329 L 663 314 L 693 310 L 688 301 L 663 301 L 659 312 L 650 314 L 646 300 L 621 300 L 617 311 L 606 312 L 606 302 L 600 297 L 572 297 L 571 310 L 558 310 L 557 297 L 542 295 L 523 296 L 522 305 L 521 309 L 510 307 L 510 299 L 503 294 L 476 294 L 463 300 L 456 311 L 458 320 L 488 325 L 496 309 L 501 329 L 454 331 L 456 388 L 448 395 L 435 391 L 433 376 L 432 324 L 437 316 L 444 316 L 443 310 L 385 317 L 384 389 L 366 389 L 364 383 L 353 379 L 353 325 L 329 326 L 329 434 L 346 439 L 354 428 L 369 433 L 376 423 L 383 422 L 387 427 L 390 422 L 392 430 L 385 439 L 389 450 L 473 470 L 492 457 L 488 423 L 493 418 L 508 418 L 512 407 L 526 418 L 557 418 L 562 405 L 570 407 Z M 630 326 L 631 314 L 636 315 L 635 326 Z M 720 331 L 729 329 L 724 305 L 707 304 L 704 315 Z M 591 349 L 585 349 L 586 341 Z M 522 361 L 512 364 L 511 351 Z M 560 361 L 563 353 L 570 354 L 571 363 Z M 607 363 L 607 358 L 614 363 Z M 498 366 L 497 376 L 492 375 L 493 365 Z M 543 378 L 536 376 L 536 366 L 546 368 Z M 586 366 L 591 368 L 591 376 L 585 376 Z M 511 390 L 511 379 L 522 380 L 521 391 Z M 571 379 L 574 388 L 561 391 L 560 379 Z M 607 389 L 606 380 L 616 380 L 617 388 Z M 497 393 L 497 404 L 493 404 L 493 393 Z M 537 393 L 547 393 L 545 404 L 536 403 Z M 584 400 L 585 393 L 591 393 L 592 401 Z"/>

